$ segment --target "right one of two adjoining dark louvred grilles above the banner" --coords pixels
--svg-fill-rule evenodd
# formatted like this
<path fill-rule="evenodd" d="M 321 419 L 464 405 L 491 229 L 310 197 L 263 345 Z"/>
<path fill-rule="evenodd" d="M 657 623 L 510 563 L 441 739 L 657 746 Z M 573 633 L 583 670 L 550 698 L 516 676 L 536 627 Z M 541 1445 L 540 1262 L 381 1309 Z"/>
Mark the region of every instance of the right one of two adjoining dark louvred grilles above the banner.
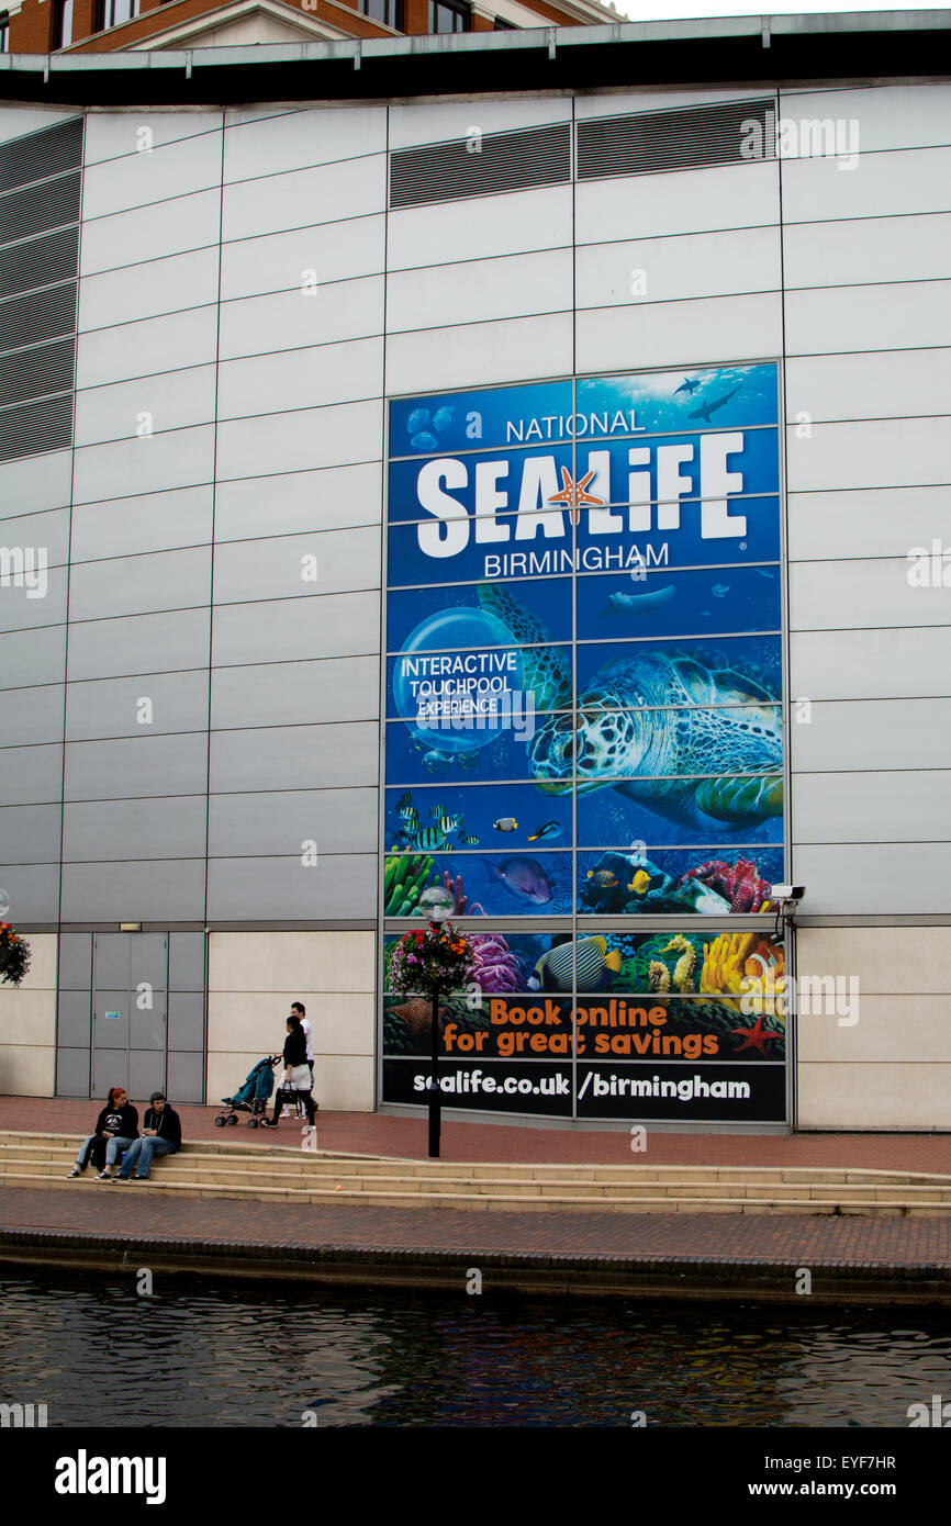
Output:
<path fill-rule="evenodd" d="M 775 159 L 775 105 L 722 101 L 579 122 L 579 180 Z"/>

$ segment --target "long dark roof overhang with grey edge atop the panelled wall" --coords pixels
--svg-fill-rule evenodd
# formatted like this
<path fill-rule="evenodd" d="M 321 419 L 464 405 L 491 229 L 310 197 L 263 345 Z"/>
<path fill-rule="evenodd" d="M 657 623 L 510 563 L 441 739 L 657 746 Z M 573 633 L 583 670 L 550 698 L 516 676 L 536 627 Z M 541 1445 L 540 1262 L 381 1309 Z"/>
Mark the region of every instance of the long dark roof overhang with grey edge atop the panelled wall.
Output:
<path fill-rule="evenodd" d="M 406 101 L 948 78 L 951 11 L 710 17 L 188 52 L 0 55 L 0 99 L 49 105 Z"/>

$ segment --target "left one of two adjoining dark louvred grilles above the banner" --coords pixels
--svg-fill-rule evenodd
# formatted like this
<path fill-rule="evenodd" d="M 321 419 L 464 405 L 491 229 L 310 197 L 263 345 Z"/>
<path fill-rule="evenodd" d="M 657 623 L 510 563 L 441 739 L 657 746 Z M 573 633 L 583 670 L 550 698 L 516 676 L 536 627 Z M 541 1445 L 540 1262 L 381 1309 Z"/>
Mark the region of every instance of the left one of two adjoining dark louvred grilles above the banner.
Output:
<path fill-rule="evenodd" d="M 525 191 L 571 179 L 571 124 L 536 127 L 525 133 L 485 133 L 421 148 L 398 148 L 389 156 L 389 204 L 424 206 L 458 201 L 498 191 Z"/>

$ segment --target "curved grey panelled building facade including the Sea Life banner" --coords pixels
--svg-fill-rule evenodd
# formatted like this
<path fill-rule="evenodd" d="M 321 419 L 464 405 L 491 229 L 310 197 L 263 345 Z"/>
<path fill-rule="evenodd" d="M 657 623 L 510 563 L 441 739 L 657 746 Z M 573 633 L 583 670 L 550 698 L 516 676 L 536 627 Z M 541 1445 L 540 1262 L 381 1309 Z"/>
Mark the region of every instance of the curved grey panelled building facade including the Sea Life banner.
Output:
<path fill-rule="evenodd" d="M 664 53 L 603 89 L 543 89 L 542 37 L 495 96 L 508 38 L 426 43 L 470 78 L 411 101 L 383 44 L 371 99 L 272 63 L 224 110 L 131 56 L 148 105 L 11 70 L 0 885 L 34 966 L 0 1090 L 215 1102 L 302 1000 L 322 1106 L 418 1108 L 389 966 L 444 887 L 478 963 L 447 1106 L 948 1128 L 919 26 L 891 79 L 817 23 L 821 84 L 765 32 L 739 84 Z"/>

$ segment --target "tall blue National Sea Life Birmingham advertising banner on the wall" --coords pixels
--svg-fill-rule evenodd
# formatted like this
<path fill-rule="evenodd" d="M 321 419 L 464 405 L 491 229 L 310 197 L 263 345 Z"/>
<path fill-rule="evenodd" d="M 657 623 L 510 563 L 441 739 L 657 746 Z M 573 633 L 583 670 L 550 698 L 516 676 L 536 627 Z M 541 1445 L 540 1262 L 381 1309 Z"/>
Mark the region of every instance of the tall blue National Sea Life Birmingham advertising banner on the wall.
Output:
<path fill-rule="evenodd" d="M 783 879 L 779 459 L 774 363 L 389 404 L 383 911 L 443 885 L 505 928 L 443 1019 L 456 1105 L 785 1116 L 783 1019 L 750 1038 L 750 971 L 710 964 L 730 935 L 644 964 L 652 932 L 608 931 L 768 913 Z M 420 1100 L 412 1001 L 385 998 L 392 1102 Z"/>

